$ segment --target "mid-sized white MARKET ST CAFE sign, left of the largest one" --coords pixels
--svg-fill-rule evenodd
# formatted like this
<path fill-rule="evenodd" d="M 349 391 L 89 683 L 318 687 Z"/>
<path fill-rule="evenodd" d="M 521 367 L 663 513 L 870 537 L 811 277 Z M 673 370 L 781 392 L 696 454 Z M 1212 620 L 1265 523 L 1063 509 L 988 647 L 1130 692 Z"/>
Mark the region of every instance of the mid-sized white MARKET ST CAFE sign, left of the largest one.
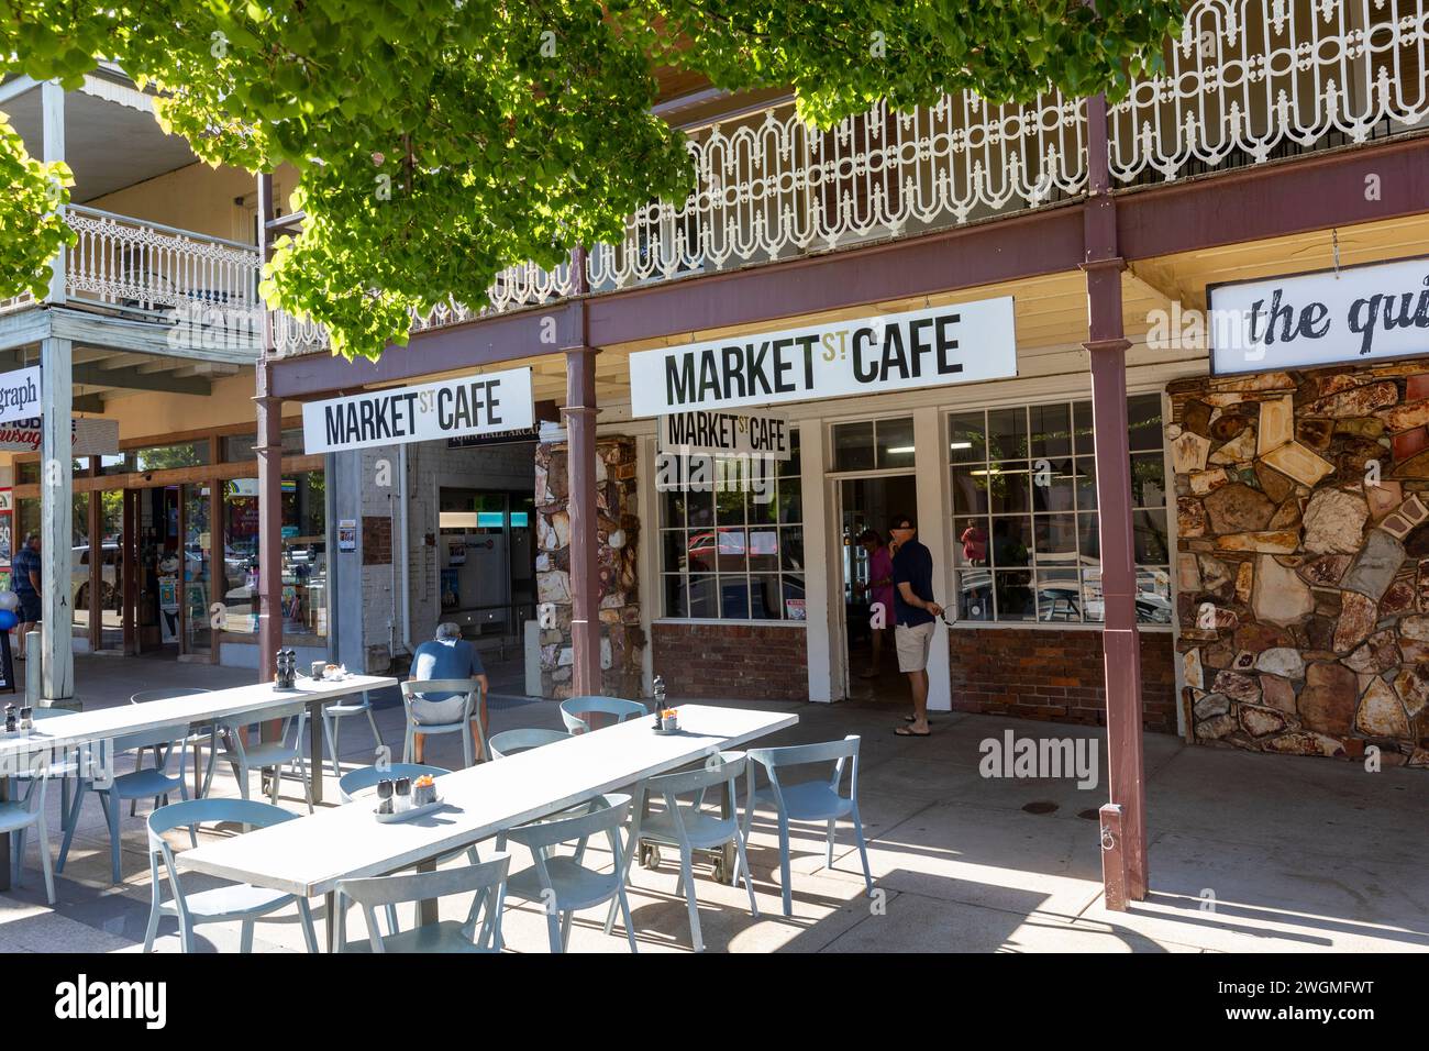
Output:
<path fill-rule="evenodd" d="M 303 406 L 307 453 L 492 435 L 530 426 L 530 367 L 369 390 Z"/>

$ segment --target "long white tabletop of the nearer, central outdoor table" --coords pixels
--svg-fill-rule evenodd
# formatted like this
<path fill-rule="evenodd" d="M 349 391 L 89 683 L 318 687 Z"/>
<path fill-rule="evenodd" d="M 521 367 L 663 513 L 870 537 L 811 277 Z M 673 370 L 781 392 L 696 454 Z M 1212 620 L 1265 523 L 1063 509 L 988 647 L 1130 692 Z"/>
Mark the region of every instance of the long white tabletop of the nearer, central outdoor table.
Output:
<path fill-rule="evenodd" d="M 447 805 L 379 824 L 372 799 L 183 851 L 184 868 L 313 897 L 339 879 L 380 875 L 496 835 L 712 752 L 793 726 L 792 712 L 682 705 L 680 732 L 643 716 L 437 778 Z"/>

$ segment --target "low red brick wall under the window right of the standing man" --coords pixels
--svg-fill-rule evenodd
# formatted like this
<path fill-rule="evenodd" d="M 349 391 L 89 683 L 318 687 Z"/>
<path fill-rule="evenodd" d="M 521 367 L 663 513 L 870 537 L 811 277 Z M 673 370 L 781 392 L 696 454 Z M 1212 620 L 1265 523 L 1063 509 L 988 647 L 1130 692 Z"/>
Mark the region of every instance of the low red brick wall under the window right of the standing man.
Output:
<path fill-rule="evenodd" d="M 1106 724 L 1102 633 L 1017 628 L 947 632 L 953 708 L 1052 722 Z M 1176 732 L 1169 632 L 1142 632 L 1145 726 Z"/>

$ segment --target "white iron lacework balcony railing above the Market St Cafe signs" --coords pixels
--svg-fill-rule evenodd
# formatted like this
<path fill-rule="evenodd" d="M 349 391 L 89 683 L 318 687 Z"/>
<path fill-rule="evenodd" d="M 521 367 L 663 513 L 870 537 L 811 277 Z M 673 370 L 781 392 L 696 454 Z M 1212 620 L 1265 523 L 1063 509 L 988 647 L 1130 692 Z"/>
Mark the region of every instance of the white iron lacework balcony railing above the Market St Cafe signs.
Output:
<path fill-rule="evenodd" d="M 1429 130 L 1429 0 L 1196 0 L 1166 73 L 1109 114 L 1122 187 Z M 829 252 L 1076 199 L 1085 106 L 1046 94 L 992 106 L 947 96 L 913 113 L 875 106 L 817 132 L 789 104 L 692 132 L 694 192 L 652 200 L 619 245 L 586 257 L 593 293 Z M 519 266 L 480 312 L 452 303 L 417 330 L 573 295 L 567 267 Z M 280 353 L 326 346 L 280 325 Z"/>

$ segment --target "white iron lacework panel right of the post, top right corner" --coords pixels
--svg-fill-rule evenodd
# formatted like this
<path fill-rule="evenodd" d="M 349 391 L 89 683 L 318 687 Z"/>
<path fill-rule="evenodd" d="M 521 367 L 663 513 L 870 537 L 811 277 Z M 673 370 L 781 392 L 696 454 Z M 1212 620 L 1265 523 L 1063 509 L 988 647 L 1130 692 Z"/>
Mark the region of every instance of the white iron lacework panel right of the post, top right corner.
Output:
<path fill-rule="evenodd" d="M 1166 76 L 1112 107 L 1126 183 L 1363 143 L 1429 122 L 1429 0 L 1198 0 Z"/>

